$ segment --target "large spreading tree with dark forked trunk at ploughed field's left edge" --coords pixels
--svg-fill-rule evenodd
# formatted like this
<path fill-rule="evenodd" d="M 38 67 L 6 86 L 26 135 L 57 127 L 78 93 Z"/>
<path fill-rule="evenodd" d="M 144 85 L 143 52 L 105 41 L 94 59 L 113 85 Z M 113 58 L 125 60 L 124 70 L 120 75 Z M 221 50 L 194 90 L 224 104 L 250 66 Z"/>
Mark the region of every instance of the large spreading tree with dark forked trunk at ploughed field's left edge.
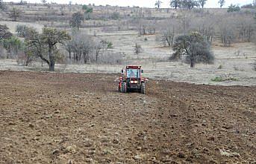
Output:
<path fill-rule="evenodd" d="M 28 47 L 31 47 L 31 50 L 34 50 L 37 56 L 49 65 L 50 71 L 54 71 L 57 47 L 63 45 L 69 39 L 70 36 L 66 31 L 45 27 L 42 34 L 35 33 L 28 40 Z M 47 54 L 47 57 L 44 56 L 45 54 Z"/>

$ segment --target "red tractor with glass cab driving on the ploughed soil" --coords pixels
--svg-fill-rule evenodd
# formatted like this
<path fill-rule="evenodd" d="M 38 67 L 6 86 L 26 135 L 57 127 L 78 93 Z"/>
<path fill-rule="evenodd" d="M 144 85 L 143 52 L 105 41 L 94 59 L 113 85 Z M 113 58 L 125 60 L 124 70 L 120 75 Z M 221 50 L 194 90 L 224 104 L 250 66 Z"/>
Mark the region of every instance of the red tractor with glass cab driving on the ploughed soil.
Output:
<path fill-rule="evenodd" d="M 122 70 L 122 77 L 119 77 L 119 92 L 139 91 L 145 94 L 147 79 L 141 76 L 142 73 L 141 66 L 126 66 L 125 70 Z"/>

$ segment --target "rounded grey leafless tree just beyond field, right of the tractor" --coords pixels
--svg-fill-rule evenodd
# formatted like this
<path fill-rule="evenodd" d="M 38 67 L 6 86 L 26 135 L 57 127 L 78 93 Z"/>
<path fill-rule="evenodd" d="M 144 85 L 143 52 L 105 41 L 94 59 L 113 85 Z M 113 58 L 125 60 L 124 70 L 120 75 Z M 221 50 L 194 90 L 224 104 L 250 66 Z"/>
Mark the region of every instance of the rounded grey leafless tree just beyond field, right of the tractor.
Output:
<path fill-rule="evenodd" d="M 190 68 L 194 68 L 196 63 L 211 63 L 213 62 L 213 54 L 210 53 L 210 45 L 205 42 L 199 33 L 190 33 L 178 36 L 175 39 L 172 49 L 175 53 L 171 59 L 183 59 L 190 63 Z"/>

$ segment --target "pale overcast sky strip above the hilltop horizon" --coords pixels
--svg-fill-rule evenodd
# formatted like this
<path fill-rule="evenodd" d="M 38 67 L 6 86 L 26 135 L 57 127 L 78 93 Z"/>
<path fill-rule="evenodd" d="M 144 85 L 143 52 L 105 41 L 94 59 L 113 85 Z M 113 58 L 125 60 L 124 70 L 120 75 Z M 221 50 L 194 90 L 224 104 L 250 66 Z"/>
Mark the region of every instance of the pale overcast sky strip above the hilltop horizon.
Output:
<path fill-rule="evenodd" d="M 4 0 L 4 1 L 10 1 L 10 0 Z M 20 0 L 11 0 L 18 2 Z M 40 3 L 41 0 L 27 0 L 28 2 L 34 3 Z M 69 1 L 72 1 L 72 4 L 78 3 L 78 4 L 96 4 L 96 5 L 106 5 L 110 4 L 112 6 L 140 6 L 140 7 L 154 7 L 155 0 L 47 0 L 47 2 L 56 2 L 61 4 L 69 4 Z M 161 0 L 163 1 L 163 4 L 161 7 L 169 7 L 169 0 Z M 219 7 L 218 5 L 219 0 L 207 0 L 207 4 L 205 7 Z M 228 7 L 230 4 L 249 4 L 252 3 L 253 0 L 225 0 L 225 6 Z"/>

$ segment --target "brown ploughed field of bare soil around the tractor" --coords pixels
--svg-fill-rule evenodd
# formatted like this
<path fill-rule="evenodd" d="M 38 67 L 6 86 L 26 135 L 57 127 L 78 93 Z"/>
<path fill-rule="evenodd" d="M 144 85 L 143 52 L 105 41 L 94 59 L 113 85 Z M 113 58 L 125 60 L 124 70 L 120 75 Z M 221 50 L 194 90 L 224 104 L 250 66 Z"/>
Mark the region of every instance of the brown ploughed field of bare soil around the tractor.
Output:
<path fill-rule="evenodd" d="M 0 71 L 0 163 L 256 163 L 256 87 Z"/>

